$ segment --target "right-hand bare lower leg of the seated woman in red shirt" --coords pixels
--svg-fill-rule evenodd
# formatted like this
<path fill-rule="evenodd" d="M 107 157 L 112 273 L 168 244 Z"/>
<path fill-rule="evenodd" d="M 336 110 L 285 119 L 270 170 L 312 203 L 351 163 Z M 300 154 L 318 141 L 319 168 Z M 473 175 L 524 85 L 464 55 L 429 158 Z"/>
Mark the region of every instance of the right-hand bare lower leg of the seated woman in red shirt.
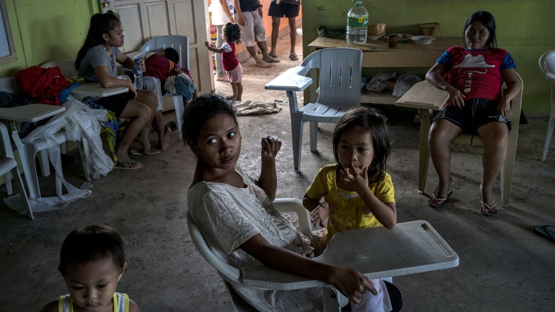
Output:
<path fill-rule="evenodd" d="M 489 122 L 478 128 L 478 135 L 484 144 L 480 193 L 482 201 L 491 206 L 496 202 L 493 183 L 507 156 L 509 129 L 504 122 Z"/>

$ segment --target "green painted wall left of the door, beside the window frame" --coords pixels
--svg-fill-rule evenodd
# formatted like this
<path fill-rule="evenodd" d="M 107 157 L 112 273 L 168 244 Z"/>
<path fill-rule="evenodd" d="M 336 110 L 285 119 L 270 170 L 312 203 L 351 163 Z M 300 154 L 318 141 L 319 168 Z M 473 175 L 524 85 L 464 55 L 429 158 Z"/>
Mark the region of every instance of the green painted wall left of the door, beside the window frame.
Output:
<path fill-rule="evenodd" d="M 75 58 L 100 12 L 96 0 L 6 0 L 17 60 L 0 65 L 0 76 L 49 60 Z"/>

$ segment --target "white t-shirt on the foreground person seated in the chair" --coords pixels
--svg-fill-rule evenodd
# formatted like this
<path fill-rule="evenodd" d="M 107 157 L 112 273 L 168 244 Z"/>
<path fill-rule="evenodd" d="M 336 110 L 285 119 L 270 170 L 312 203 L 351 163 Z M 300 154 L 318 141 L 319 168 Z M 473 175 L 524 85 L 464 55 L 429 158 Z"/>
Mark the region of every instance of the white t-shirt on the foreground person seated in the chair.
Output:
<path fill-rule="evenodd" d="M 239 246 L 256 234 L 281 248 L 304 254 L 301 236 L 268 196 L 237 165 L 235 171 L 245 183 L 236 188 L 224 183 L 198 182 L 188 191 L 189 213 L 217 257 L 235 268 L 261 265 Z M 322 290 L 234 289 L 260 311 L 321 311 Z"/>

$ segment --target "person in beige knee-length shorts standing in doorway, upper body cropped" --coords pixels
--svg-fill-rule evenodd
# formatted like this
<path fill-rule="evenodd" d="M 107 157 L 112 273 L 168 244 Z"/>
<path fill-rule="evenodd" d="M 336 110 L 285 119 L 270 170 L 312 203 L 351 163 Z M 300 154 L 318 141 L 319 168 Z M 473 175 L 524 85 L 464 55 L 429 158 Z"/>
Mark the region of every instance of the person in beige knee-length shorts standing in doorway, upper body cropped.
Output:
<path fill-rule="evenodd" d="M 262 21 L 262 4 L 259 0 L 233 0 L 233 4 L 237 14 L 236 21 L 241 25 L 241 40 L 256 62 L 256 66 L 272 67 L 269 63 L 277 63 L 279 60 L 268 54 L 266 29 Z M 256 55 L 255 43 L 262 52 L 262 58 Z"/>

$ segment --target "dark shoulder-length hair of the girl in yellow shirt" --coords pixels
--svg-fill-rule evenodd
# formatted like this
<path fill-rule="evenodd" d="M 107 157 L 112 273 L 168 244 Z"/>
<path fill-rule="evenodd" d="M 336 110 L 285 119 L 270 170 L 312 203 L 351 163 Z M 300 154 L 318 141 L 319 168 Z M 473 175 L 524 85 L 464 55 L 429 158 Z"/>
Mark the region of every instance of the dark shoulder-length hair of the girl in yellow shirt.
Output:
<path fill-rule="evenodd" d="M 370 183 L 381 183 L 385 178 L 387 158 L 391 152 L 391 146 L 387 137 L 387 127 L 384 115 L 369 108 L 360 106 L 351 108 L 345 112 L 334 129 L 333 145 L 335 161 L 339 162 L 339 142 L 343 133 L 356 126 L 363 127 L 372 136 L 374 146 L 374 160 L 368 167 Z"/>

